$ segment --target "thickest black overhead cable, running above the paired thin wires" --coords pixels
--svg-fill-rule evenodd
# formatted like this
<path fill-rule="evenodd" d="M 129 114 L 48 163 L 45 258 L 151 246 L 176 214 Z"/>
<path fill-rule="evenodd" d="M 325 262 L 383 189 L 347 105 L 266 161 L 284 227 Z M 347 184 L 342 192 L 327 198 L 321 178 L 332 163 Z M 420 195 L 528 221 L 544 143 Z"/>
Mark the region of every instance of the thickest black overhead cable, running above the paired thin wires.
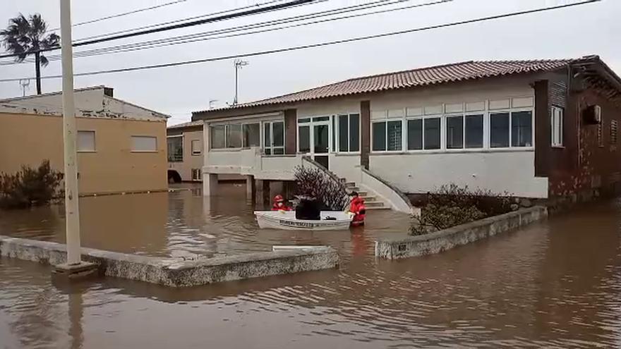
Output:
<path fill-rule="evenodd" d="M 126 33 L 126 34 L 114 35 L 114 36 L 111 36 L 111 37 L 102 37 L 100 39 L 92 39 L 92 40 L 87 40 L 87 41 L 76 42 L 72 46 L 73 47 L 80 47 L 80 46 L 85 46 L 85 45 L 90 45 L 90 44 L 98 44 L 100 42 L 107 42 L 107 41 L 111 41 L 111 40 L 126 39 L 128 37 L 135 37 L 135 36 L 139 36 L 139 35 L 154 34 L 156 32 L 165 32 L 165 31 L 168 31 L 168 30 L 181 29 L 181 28 L 185 28 L 185 27 L 193 27 L 195 25 L 203 25 L 203 24 L 207 24 L 207 23 L 218 22 L 218 21 L 221 21 L 221 20 L 229 20 L 229 19 L 232 19 L 232 18 L 239 18 L 239 17 L 243 17 L 243 16 L 251 16 L 251 15 L 255 15 L 255 14 L 259 14 L 259 13 L 266 13 L 266 12 L 271 12 L 271 11 L 279 11 L 279 10 L 283 10 L 283 9 L 291 8 L 291 7 L 295 7 L 295 6 L 302 6 L 302 5 L 313 4 L 313 3 L 317 3 L 318 1 L 325 1 L 325 0 L 293 0 L 293 1 L 287 2 L 286 4 L 276 4 L 276 5 L 262 7 L 262 8 L 253 8 L 251 10 L 237 12 L 237 13 L 231 13 L 229 15 L 222 15 L 222 16 L 217 16 L 217 17 L 213 17 L 213 18 L 205 18 L 205 19 L 202 19 L 202 20 L 193 20 L 191 22 L 180 23 L 180 24 L 175 24 L 175 25 L 169 25 L 167 27 L 157 27 L 157 28 L 143 30 L 143 31 L 140 31 L 140 32 L 131 32 L 131 33 Z M 39 50 L 36 50 L 36 51 L 29 51 L 28 54 L 34 54 L 36 52 L 44 52 L 44 51 L 54 51 L 56 49 L 60 49 L 60 47 L 54 47 L 54 48 L 51 48 L 51 49 L 39 49 Z M 15 56 L 19 56 L 19 55 L 20 54 L 4 54 L 4 55 L 0 55 L 0 58 L 15 57 Z"/>

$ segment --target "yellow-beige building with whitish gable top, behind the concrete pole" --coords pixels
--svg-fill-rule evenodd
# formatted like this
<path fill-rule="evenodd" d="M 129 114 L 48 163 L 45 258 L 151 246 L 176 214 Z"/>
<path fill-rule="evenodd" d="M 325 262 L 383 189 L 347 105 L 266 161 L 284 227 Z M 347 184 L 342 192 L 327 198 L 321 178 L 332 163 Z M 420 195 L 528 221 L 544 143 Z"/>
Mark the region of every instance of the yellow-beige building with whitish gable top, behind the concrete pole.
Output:
<path fill-rule="evenodd" d="M 80 195 L 167 190 L 164 114 L 97 86 L 76 90 Z M 48 159 L 63 171 L 61 92 L 0 100 L 0 173 Z"/>

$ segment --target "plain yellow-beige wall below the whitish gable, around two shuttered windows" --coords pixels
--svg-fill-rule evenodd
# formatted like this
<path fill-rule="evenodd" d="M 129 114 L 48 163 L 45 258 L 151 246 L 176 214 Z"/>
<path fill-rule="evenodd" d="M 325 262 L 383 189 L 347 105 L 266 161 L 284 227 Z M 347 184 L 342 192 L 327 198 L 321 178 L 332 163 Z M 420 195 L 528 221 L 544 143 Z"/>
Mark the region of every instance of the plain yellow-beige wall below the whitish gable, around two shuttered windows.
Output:
<path fill-rule="evenodd" d="M 95 131 L 95 152 L 78 153 L 81 194 L 167 189 L 166 123 L 77 118 L 78 130 Z M 157 137 L 157 152 L 131 152 L 132 135 Z M 0 172 L 49 159 L 63 171 L 60 116 L 0 113 Z"/>

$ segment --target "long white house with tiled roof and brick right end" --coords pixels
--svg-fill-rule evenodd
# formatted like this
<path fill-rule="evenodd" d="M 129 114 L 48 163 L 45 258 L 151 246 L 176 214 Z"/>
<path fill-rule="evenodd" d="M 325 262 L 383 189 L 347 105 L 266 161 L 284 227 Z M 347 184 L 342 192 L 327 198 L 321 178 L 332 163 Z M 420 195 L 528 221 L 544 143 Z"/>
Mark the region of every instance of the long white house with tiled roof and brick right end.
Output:
<path fill-rule="evenodd" d="M 291 180 L 307 157 L 392 207 L 373 179 L 412 194 L 456 183 L 517 197 L 588 197 L 613 192 L 620 177 L 620 91 L 598 56 L 470 61 L 193 118 L 207 125 L 205 175 Z"/>

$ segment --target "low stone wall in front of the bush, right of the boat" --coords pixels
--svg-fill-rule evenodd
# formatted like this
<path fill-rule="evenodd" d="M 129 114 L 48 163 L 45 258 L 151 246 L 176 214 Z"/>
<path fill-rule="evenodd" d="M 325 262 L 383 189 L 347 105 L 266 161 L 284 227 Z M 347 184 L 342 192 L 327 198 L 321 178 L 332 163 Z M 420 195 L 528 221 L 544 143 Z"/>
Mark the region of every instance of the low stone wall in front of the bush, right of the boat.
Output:
<path fill-rule="evenodd" d="M 534 221 L 545 219 L 547 216 L 548 209 L 537 206 L 454 226 L 427 235 L 375 240 L 375 256 L 400 259 L 433 255 L 459 245 L 466 245 L 482 238 L 531 224 Z"/>

